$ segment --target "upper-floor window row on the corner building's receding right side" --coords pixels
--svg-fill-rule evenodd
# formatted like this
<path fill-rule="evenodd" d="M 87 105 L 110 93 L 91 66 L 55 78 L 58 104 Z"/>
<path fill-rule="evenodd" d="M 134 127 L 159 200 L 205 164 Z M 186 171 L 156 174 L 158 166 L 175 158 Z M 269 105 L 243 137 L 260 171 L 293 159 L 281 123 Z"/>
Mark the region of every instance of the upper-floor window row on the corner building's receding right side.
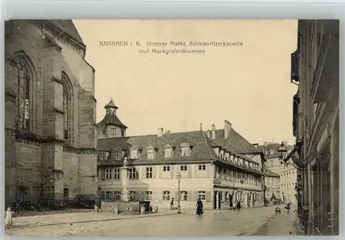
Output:
<path fill-rule="evenodd" d="M 243 173 L 240 171 L 236 171 L 232 168 L 221 168 L 218 166 L 215 166 L 213 177 L 215 179 L 221 179 L 231 182 L 241 182 L 243 184 L 252 184 L 255 186 L 259 186 L 262 179 L 260 176 L 257 175 Z"/>

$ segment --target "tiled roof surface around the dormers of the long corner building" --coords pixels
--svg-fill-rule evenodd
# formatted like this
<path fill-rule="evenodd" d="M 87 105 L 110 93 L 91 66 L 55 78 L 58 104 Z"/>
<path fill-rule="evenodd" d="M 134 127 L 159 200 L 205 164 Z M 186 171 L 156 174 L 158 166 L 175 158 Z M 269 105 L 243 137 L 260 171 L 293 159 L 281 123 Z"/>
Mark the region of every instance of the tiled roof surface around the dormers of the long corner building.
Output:
<path fill-rule="evenodd" d="M 191 154 L 188 157 L 182 157 L 180 152 L 180 145 L 186 143 L 191 148 Z M 174 151 L 172 152 L 172 157 L 164 157 L 164 146 L 172 146 Z M 146 148 L 152 146 L 156 149 L 155 159 L 149 160 L 146 154 Z M 166 163 L 181 163 L 181 162 L 204 162 L 204 161 L 215 161 L 234 166 L 235 168 L 240 168 L 244 171 L 250 171 L 257 174 L 262 174 L 260 171 L 255 170 L 254 168 L 241 166 L 233 162 L 228 162 L 219 158 L 215 151 L 213 151 L 213 146 L 218 146 L 212 140 L 210 140 L 203 131 L 190 131 L 183 133 L 166 133 L 161 137 L 158 135 L 139 135 L 139 136 L 130 136 L 125 138 L 108 138 L 108 139 L 99 139 L 97 149 L 99 151 L 109 151 L 110 155 L 108 160 L 105 162 L 99 162 L 100 166 L 104 165 L 121 165 L 122 162 L 115 160 L 115 151 L 122 150 L 126 152 L 126 156 L 130 155 L 130 148 L 136 147 L 140 149 L 141 153 L 139 159 L 129 160 L 130 164 L 164 164 Z M 236 154 L 237 155 L 237 154 Z M 237 155 L 238 156 L 238 155 Z M 253 160 L 250 160 L 248 157 L 242 156 L 248 162 L 256 163 Z"/>

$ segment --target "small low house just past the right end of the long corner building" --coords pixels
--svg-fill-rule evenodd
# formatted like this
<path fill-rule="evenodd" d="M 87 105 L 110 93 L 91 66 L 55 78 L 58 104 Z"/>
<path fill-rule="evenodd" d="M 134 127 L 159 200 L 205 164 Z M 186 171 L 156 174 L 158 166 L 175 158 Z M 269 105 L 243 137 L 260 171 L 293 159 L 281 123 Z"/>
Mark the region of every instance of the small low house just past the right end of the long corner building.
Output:
<path fill-rule="evenodd" d="M 280 175 L 270 171 L 266 168 L 265 170 L 265 186 L 266 192 L 265 197 L 269 201 L 274 199 L 281 199 L 280 197 Z"/>

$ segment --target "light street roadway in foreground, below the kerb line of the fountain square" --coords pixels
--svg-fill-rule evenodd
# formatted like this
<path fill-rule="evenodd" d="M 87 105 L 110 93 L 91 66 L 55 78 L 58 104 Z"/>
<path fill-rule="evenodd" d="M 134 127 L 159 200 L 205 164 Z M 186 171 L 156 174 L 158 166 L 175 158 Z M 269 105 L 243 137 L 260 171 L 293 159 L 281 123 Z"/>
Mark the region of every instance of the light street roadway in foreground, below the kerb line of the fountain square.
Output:
<path fill-rule="evenodd" d="M 291 212 L 292 213 L 292 212 Z M 290 214 L 291 214 L 290 213 Z M 86 214 L 86 213 L 84 213 Z M 285 216 L 282 212 L 281 216 Z M 289 215 L 289 216 L 293 216 Z M 52 216 L 51 216 L 52 217 Z M 233 210 L 206 210 L 203 217 L 195 212 L 183 215 L 162 215 L 155 217 L 130 217 L 117 221 L 92 221 L 66 223 L 52 226 L 21 227 L 6 230 L 11 236 L 108 236 L 108 237 L 179 237 L 179 236 L 226 236 L 250 235 L 258 232 L 268 219 L 275 217 L 273 206 L 250 208 L 240 212 Z M 279 219 L 279 221 L 284 218 Z M 282 226 L 286 221 L 282 221 Z M 272 226 L 275 228 L 275 226 Z M 289 228 L 287 226 L 287 228 Z M 135 231 L 133 231 L 135 229 Z M 281 228 L 279 228 L 282 230 Z M 273 233 L 277 233 L 274 229 Z M 283 234 L 284 231 L 282 231 Z M 287 230 L 289 232 L 289 230 Z"/>

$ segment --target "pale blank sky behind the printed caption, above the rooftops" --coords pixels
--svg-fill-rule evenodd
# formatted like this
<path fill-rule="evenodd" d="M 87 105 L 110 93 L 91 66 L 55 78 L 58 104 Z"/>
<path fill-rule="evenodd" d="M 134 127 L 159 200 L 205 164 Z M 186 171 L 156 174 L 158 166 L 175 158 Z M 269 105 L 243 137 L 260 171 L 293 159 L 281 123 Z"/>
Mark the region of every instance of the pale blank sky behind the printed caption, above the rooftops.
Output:
<path fill-rule="evenodd" d="M 95 67 L 97 122 L 110 98 L 127 135 L 224 128 L 224 120 L 252 143 L 293 143 L 290 54 L 297 47 L 295 20 L 138 21 L 75 20 Z M 100 46 L 140 41 L 141 47 Z M 146 43 L 204 54 L 139 54 Z M 170 41 L 239 42 L 242 46 L 172 47 Z"/>

